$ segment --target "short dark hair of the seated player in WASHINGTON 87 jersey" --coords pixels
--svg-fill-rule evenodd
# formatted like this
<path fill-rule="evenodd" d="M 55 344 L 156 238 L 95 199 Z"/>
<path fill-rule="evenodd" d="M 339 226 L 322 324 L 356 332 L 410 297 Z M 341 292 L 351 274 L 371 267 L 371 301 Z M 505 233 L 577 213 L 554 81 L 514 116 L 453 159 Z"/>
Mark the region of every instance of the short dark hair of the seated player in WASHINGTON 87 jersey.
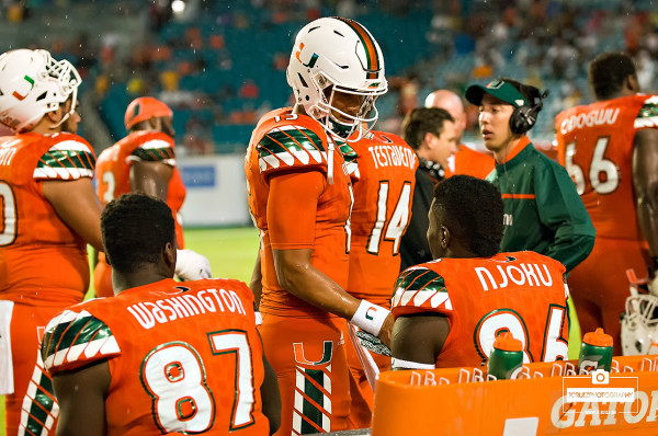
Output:
<path fill-rule="evenodd" d="M 101 233 L 107 263 L 121 273 L 157 264 L 164 245 L 175 241 L 169 206 L 141 192 L 124 194 L 105 206 Z"/>

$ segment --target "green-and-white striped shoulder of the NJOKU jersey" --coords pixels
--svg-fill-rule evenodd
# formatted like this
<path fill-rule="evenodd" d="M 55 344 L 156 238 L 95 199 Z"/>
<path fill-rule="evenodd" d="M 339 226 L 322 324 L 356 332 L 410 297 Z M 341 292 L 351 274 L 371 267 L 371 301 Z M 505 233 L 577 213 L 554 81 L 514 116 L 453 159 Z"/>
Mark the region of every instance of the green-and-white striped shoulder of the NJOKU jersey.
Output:
<path fill-rule="evenodd" d="M 392 307 L 396 317 L 427 310 L 452 311 L 443 277 L 423 266 L 412 266 L 400 274 Z"/>

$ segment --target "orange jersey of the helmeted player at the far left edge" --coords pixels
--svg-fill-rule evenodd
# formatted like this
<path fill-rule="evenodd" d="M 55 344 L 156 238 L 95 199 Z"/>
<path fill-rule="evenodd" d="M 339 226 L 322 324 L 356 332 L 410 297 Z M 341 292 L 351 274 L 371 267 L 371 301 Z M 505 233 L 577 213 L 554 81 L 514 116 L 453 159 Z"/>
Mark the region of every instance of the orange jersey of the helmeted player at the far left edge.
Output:
<path fill-rule="evenodd" d="M 77 135 L 0 138 L 2 299 L 41 306 L 82 300 L 89 287 L 87 243 L 58 217 L 42 182 L 91 179 L 94 162 L 92 148 Z"/>

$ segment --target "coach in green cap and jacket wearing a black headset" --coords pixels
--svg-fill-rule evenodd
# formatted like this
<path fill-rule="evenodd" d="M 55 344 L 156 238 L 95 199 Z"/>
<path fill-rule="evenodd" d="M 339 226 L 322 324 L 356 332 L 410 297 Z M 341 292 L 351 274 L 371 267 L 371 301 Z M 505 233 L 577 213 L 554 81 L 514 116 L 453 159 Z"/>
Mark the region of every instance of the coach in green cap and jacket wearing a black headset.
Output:
<path fill-rule="evenodd" d="M 531 250 L 561 262 L 568 273 L 592 251 L 595 231 L 567 171 L 526 136 L 546 95 L 510 79 L 466 90 L 466 100 L 479 106 L 485 147 L 496 158 L 487 180 L 504 203 L 501 251 Z"/>

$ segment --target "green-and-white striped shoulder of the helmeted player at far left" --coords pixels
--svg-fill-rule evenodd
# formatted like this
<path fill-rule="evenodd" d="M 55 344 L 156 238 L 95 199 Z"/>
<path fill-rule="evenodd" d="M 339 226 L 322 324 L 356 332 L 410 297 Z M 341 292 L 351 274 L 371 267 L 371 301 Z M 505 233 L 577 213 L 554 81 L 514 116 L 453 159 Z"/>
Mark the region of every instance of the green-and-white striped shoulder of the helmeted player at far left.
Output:
<path fill-rule="evenodd" d="M 89 142 L 77 135 L 58 134 L 49 137 L 50 148 L 34 169 L 36 180 L 78 180 L 93 177 L 95 157 Z"/>

